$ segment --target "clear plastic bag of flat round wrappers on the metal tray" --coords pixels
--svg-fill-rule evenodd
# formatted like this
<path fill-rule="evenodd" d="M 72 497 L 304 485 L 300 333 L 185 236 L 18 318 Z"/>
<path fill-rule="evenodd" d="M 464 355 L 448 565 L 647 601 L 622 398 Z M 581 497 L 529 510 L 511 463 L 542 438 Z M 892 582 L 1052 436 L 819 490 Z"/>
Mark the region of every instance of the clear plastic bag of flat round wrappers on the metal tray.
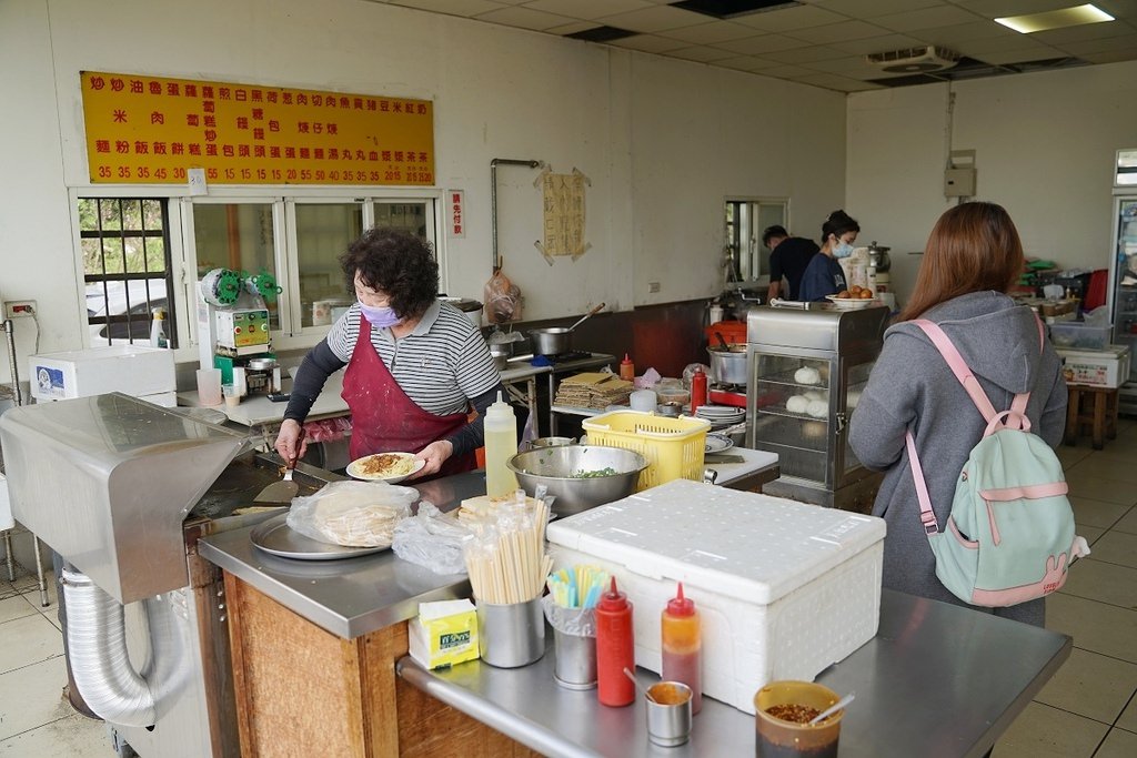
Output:
<path fill-rule="evenodd" d="M 388 548 L 418 491 L 387 482 L 332 482 L 292 500 L 288 525 L 300 534 L 350 548 Z"/>

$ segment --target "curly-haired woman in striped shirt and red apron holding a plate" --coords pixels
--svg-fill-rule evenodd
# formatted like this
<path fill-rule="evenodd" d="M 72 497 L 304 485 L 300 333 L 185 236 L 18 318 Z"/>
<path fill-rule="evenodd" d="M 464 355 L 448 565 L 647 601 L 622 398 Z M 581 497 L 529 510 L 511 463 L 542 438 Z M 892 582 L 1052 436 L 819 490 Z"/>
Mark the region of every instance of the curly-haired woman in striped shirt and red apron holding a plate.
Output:
<path fill-rule="evenodd" d="M 284 411 L 276 451 L 304 455 L 301 425 L 334 372 L 343 374 L 351 410 L 351 459 L 414 452 L 426 461 L 416 478 L 476 468 L 485 409 L 501 377 L 481 333 L 438 300 L 430 244 L 393 230 L 368 230 L 340 256 L 358 301 L 305 357 Z M 478 418 L 467 420 L 470 407 Z"/>

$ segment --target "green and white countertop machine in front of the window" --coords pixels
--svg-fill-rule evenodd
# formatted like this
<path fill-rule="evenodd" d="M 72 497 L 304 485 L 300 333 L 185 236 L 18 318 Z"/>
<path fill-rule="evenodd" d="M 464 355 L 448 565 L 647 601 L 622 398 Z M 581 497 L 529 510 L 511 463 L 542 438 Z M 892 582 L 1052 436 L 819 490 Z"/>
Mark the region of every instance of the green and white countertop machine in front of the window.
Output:
<path fill-rule="evenodd" d="M 219 368 L 223 384 L 239 394 L 281 391 L 272 351 L 269 303 L 281 288 L 267 270 L 257 275 L 214 268 L 199 284 L 198 334 L 202 368 Z"/>

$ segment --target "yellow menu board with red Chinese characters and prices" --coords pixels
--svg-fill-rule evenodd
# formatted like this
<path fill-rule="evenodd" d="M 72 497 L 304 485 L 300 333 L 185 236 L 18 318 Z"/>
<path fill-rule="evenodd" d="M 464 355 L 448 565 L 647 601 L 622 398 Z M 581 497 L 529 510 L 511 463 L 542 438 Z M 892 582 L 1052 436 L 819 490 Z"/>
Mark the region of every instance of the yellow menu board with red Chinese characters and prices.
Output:
<path fill-rule="evenodd" d="M 82 72 L 93 183 L 434 183 L 429 100 Z"/>

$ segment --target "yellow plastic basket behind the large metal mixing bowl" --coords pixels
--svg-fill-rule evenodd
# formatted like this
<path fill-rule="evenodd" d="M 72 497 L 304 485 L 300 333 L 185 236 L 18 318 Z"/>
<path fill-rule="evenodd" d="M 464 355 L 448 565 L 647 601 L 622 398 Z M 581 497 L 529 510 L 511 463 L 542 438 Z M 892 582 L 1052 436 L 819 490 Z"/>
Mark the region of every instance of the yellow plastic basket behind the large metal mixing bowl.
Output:
<path fill-rule="evenodd" d="M 703 481 L 703 453 L 711 428 L 706 419 L 614 410 L 586 418 L 581 426 L 589 444 L 634 450 L 647 459 L 637 492 L 677 478 Z"/>

